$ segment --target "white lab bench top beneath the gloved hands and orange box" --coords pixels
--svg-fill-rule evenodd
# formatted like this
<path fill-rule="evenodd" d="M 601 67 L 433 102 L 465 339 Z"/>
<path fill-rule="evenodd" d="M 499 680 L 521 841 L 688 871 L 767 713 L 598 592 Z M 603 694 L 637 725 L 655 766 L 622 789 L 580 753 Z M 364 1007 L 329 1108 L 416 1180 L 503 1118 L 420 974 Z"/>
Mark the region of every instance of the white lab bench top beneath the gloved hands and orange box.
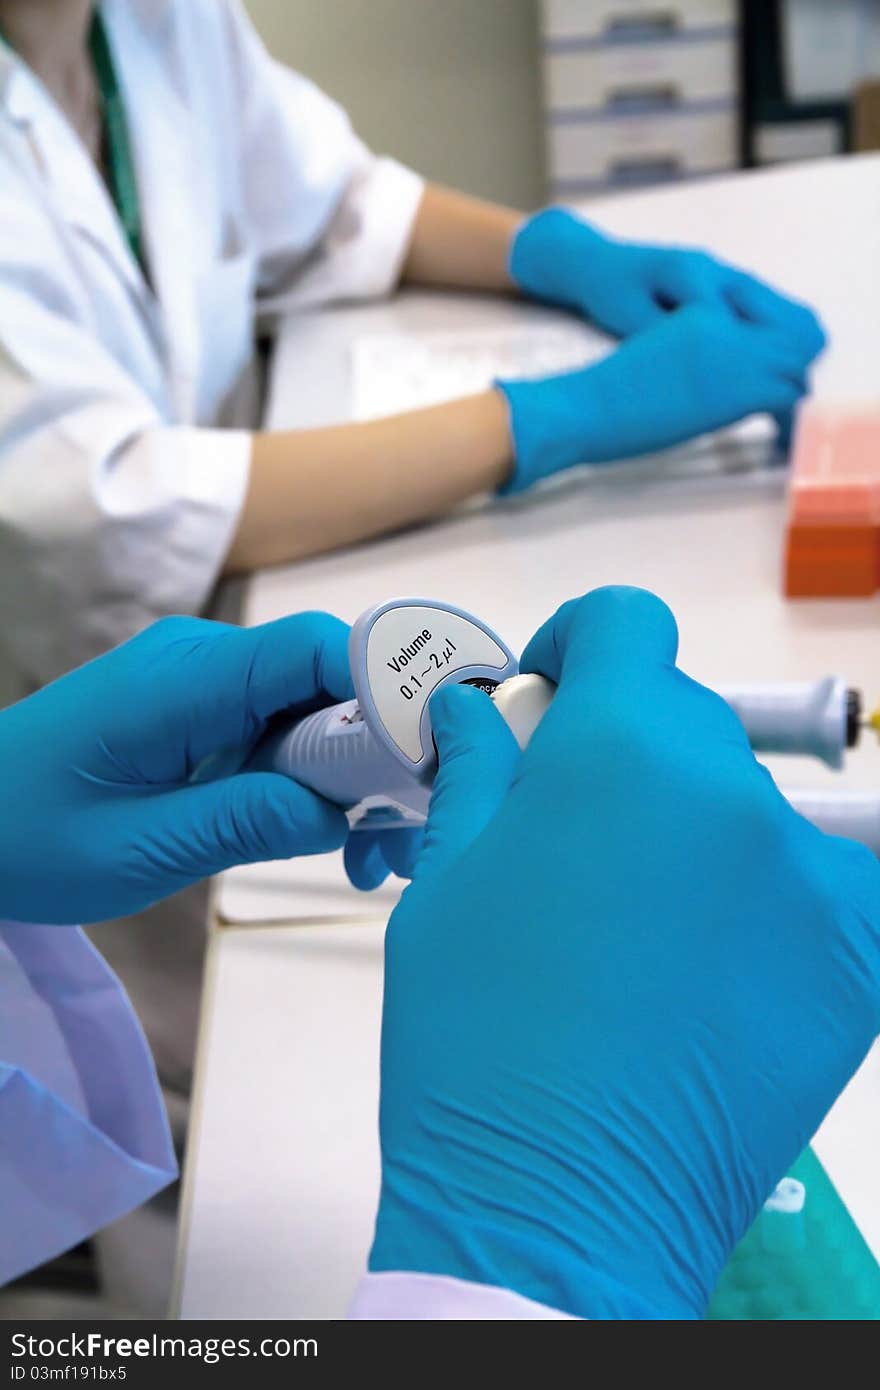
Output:
<path fill-rule="evenodd" d="M 705 245 L 816 304 L 831 343 L 816 393 L 877 398 L 879 156 L 594 202 L 589 215 L 621 235 Z M 268 423 L 349 418 L 359 335 L 553 317 L 516 302 L 409 292 L 300 317 L 278 345 Z M 759 445 L 708 448 L 710 477 L 669 457 L 581 473 L 541 495 L 267 570 L 249 587 L 246 621 L 306 607 L 353 620 L 373 602 L 421 594 L 474 610 L 517 649 L 564 599 L 626 582 L 670 603 L 680 662 L 698 680 L 836 671 L 880 698 L 880 602 L 787 602 L 784 477 L 748 467 Z M 880 751 L 862 746 L 842 774 L 805 760 L 773 769 L 790 787 L 872 787 Z M 396 892 L 356 895 L 338 856 L 234 870 L 217 885 L 184 1190 L 182 1316 L 343 1314 L 378 1184 L 381 944 Z M 817 1151 L 880 1257 L 876 1051 Z"/>

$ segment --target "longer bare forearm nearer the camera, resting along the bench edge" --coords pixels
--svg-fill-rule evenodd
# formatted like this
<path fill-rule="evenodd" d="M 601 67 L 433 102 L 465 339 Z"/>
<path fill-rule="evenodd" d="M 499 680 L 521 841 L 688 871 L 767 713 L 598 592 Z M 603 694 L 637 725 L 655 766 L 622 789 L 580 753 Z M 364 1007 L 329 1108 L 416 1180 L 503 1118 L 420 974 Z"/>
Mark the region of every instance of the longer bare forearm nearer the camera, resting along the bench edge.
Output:
<path fill-rule="evenodd" d="M 507 481 L 498 391 L 364 424 L 259 434 L 225 573 L 299 560 L 441 516 Z"/>

